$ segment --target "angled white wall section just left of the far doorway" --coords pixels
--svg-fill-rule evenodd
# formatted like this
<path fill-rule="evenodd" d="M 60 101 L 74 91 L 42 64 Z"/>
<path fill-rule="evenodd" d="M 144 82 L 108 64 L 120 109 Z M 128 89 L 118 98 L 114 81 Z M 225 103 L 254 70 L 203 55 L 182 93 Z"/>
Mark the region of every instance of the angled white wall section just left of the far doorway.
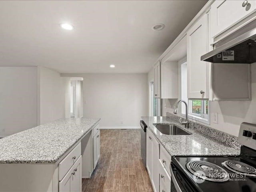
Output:
<path fill-rule="evenodd" d="M 38 124 L 45 124 L 68 115 L 67 92 L 70 78 L 60 77 L 60 73 L 38 67 L 39 106 Z"/>

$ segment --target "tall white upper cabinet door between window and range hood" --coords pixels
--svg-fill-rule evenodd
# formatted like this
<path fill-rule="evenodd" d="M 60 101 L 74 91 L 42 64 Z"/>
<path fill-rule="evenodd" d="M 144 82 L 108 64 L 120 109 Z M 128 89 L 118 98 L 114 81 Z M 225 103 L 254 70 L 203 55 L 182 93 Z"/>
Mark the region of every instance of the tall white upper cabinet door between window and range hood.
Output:
<path fill-rule="evenodd" d="M 201 56 L 208 52 L 208 15 L 204 14 L 187 33 L 188 98 L 208 99 L 208 62 Z"/>

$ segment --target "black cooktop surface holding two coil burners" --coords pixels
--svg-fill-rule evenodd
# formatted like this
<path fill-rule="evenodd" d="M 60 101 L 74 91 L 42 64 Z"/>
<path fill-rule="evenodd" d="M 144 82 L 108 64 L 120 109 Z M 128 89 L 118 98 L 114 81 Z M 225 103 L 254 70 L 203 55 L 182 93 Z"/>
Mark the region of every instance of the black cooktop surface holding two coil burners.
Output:
<path fill-rule="evenodd" d="M 256 192 L 256 162 L 243 156 L 174 156 L 172 163 L 195 191 Z"/>

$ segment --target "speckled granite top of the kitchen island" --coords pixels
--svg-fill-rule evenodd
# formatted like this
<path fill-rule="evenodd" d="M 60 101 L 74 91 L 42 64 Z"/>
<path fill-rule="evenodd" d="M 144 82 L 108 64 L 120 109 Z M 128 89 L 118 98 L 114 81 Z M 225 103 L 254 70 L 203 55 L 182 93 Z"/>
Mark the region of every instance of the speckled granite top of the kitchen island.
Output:
<path fill-rule="evenodd" d="M 0 139 L 0 163 L 55 163 L 98 122 L 66 118 Z"/>

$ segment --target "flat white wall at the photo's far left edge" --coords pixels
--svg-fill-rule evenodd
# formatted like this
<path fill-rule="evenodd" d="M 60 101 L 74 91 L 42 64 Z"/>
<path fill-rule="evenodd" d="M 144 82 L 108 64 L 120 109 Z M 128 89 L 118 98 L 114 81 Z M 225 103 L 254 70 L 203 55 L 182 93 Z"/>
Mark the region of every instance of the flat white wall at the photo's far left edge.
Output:
<path fill-rule="evenodd" d="M 37 68 L 0 67 L 0 136 L 36 125 Z"/>

